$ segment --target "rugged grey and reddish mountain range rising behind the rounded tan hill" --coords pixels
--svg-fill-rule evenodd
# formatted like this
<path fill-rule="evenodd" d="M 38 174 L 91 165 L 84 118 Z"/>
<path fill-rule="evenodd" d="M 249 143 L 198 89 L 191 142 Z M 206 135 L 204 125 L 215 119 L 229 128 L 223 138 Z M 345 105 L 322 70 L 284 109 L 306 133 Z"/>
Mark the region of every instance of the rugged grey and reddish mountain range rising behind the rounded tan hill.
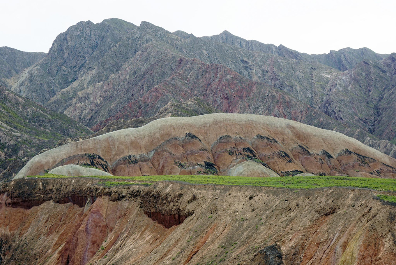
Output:
<path fill-rule="evenodd" d="M 309 55 L 228 31 L 198 38 L 105 19 L 69 27 L 47 54 L 1 47 L 0 64 L 2 95 L 71 118 L 73 129 L 57 140 L 137 118 L 252 113 L 342 132 L 396 157 L 395 53 L 348 47 Z"/>

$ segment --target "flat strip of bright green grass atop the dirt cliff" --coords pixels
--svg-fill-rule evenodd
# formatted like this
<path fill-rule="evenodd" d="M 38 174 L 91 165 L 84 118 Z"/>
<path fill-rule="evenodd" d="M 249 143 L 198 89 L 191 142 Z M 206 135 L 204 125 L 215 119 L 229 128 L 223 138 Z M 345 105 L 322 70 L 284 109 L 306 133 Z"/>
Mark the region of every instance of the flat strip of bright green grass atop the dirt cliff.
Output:
<path fill-rule="evenodd" d="M 37 178 L 65 178 L 66 176 L 46 174 L 44 176 L 28 176 Z M 169 175 L 169 176 L 84 176 L 99 179 L 120 179 L 130 181 L 182 181 L 192 184 L 265 186 L 276 188 L 324 188 L 324 187 L 353 187 L 369 188 L 373 190 L 396 191 L 395 179 L 373 179 L 341 176 L 313 176 L 313 177 L 270 177 L 251 178 L 234 176 L 208 175 Z"/>

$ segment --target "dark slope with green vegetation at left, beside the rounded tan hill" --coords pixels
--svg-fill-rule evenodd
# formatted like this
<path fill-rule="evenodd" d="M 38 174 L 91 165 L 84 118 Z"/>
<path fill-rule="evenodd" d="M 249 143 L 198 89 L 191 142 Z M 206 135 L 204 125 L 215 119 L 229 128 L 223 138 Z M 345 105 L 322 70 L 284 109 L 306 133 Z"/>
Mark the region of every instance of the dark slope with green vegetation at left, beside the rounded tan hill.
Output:
<path fill-rule="evenodd" d="M 84 125 L 0 86 L 0 151 L 6 159 L 32 157 L 61 138 L 91 134 Z"/>

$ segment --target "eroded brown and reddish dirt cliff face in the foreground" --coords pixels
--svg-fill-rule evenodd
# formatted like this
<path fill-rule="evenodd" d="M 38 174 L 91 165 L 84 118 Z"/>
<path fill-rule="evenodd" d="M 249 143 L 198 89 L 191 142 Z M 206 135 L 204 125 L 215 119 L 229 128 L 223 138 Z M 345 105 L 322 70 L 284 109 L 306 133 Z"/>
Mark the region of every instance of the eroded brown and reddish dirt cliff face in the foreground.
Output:
<path fill-rule="evenodd" d="M 95 182 L 4 184 L 0 264 L 396 264 L 372 190 Z"/>

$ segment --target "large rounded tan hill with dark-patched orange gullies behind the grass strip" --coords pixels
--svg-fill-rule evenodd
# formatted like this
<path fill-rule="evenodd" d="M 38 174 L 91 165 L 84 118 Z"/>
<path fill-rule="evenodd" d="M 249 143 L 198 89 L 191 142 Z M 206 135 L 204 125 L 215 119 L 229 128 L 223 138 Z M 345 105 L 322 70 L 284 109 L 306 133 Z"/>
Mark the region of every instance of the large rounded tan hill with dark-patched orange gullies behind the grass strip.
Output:
<path fill-rule="evenodd" d="M 15 179 L 68 164 L 92 165 L 116 176 L 244 175 L 240 166 L 232 168 L 245 161 L 281 176 L 396 178 L 396 159 L 339 132 L 270 116 L 217 113 L 158 119 L 65 144 L 33 157 Z M 247 172 L 268 176 L 257 168 Z"/>

